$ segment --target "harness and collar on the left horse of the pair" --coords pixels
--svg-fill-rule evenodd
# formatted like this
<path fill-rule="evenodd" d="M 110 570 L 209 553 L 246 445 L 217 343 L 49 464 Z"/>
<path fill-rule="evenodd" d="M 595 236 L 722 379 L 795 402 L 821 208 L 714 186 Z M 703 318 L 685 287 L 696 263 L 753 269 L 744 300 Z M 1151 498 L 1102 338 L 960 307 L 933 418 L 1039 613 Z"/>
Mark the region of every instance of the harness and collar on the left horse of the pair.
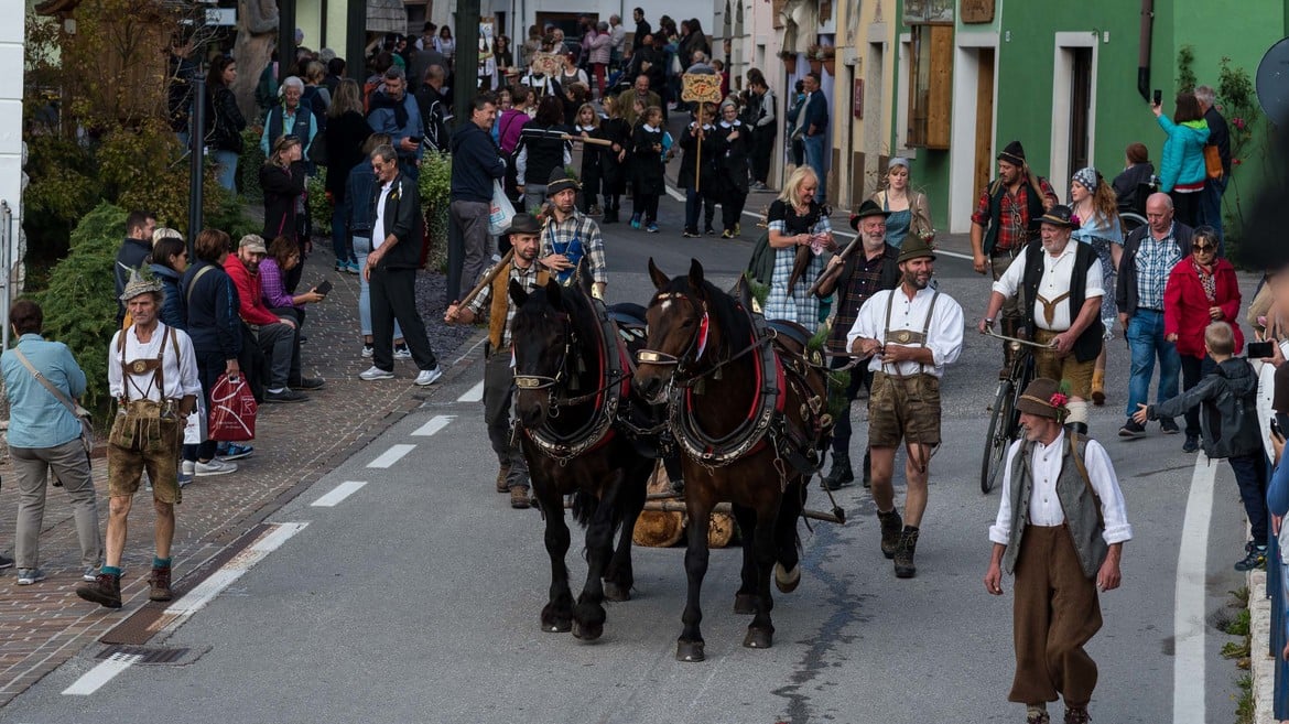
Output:
<path fill-rule="evenodd" d="M 594 402 L 590 419 L 572 433 L 561 434 L 550 429 L 549 425 L 540 428 L 523 428 L 523 433 L 532 441 L 532 444 L 543 455 L 567 465 L 570 460 L 590 452 L 597 447 L 607 444 L 614 438 L 614 421 L 619 417 L 617 410 L 623 399 L 630 393 L 630 371 L 626 345 L 617 334 L 617 326 L 608 317 L 605 305 L 598 299 L 590 300 L 596 312 L 597 334 L 599 343 L 594 345 L 598 353 L 598 368 L 603 371 L 602 383 L 597 389 L 575 397 L 557 394 L 557 390 L 579 392 L 579 375 L 586 372 L 586 349 L 580 341 L 572 322 L 567 318 L 566 343 L 561 352 L 556 376 L 523 375 L 516 370 L 514 386 L 519 390 L 548 390 L 550 399 L 550 417 L 558 417 L 561 407 L 571 407 L 586 402 Z M 566 375 L 568 362 L 576 366 L 574 375 Z M 518 425 L 516 426 L 518 429 Z"/>

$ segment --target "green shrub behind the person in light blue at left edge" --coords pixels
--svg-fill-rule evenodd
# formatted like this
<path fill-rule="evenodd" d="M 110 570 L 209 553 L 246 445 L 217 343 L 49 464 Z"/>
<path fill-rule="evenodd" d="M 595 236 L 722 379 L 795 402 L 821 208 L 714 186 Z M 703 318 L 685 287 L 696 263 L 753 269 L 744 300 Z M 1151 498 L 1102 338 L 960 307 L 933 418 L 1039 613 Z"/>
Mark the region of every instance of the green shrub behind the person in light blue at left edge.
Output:
<path fill-rule="evenodd" d="M 54 267 L 49 289 L 37 301 L 45 312 L 45 336 L 66 344 L 89 380 L 81 403 L 106 419 L 107 347 L 116 332 L 116 283 L 112 269 L 125 229 L 125 209 L 106 201 L 81 218 L 71 251 Z"/>

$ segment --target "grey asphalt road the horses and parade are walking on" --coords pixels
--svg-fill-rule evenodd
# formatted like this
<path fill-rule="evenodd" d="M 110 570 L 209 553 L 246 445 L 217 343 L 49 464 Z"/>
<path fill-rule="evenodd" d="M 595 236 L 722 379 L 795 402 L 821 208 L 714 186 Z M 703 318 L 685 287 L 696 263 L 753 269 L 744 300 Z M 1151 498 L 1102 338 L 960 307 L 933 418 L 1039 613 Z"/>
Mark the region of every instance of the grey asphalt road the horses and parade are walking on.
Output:
<path fill-rule="evenodd" d="M 666 233 L 608 227 L 611 300 L 648 299 L 648 256 L 672 274 L 695 256 L 718 283 L 742 268 L 750 241 L 683 240 L 678 206 L 664 200 Z M 942 255 L 936 272 L 968 319 L 978 317 L 987 286 L 969 263 Z M 1234 720 L 1239 672 L 1218 656 L 1231 639 L 1210 624 L 1243 585 L 1231 568 L 1244 541 L 1235 483 L 1216 466 L 1212 505 L 1188 518 L 1195 456 L 1179 451 L 1181 438 L 1158 428 L 1141 441 L 1115 437 L 1127 353 L 1121 339 L 1111 345 L 1111 401 L 1093 408 L 1090 426 L 1114 459 L 1136 538 L 1125 546 L 1123 587 L 1102 596 L 1106 625 L 1089 647 L 1101 666 L 1092 714 L 1116 723 Z M 266 544 L 258 562 L 238 557 L 245 573 L 202 607 L 177 602 L 197 609 L 152 643 L 191 648 L 195 662 L 119 665 L 108 678 L 90 649 L 0 710 L 0 721 L 1021 721 L 1023 709 L 1005 701 L 1011 581 L 1000 599 L 981 584 L 998 493 L 981 495 L 976 474 L 998 362 L 995 344 L 968 334 L 946 376 L 945 444 L 932 461 L 918 577 L 895 578 L 878 550 L 871 499 L 847 488 L 838 495 L 844 527 L 802 527 L 804 576 L 795 593 L 776 594 L 772 649 L 740 645 L 748 618 L 731 609 L 735 550 L 712 557 L 704 663 L 674 660 L 682 549 L 637 549 L 634 599 L 608 605 L 601 642 L 541 633 L 541 519 L 492 492 L 481 405 L 461 401 L 481 379 L 476 365 L 273 514 L 271 523 L 285 527 L 268 542 L 280 548 Z M 860 406 L 855 415 L 862 430 Z M 856 452 L 861 443 L 857 434 Z M 313 505 L 320 499 L 334 505 Z M 811 506 L 826 508 L 820 499 L 812 490 Z M 1186 537 L 1207 558 L 1179 587 L 1183 520 L 1201 523 Z M 574 540 L 576 582 L 585 567 L 576 532 Z M 1203 608 L 1197 661 L 1174 656 L 1185 648 L 1174 638 L 1179 590 L 1197 591 Z M 64 693 L 94 684 L 89 696 Z M 1200 694 L 1200 709 L 1174 711 L 1177 694 Z"/>

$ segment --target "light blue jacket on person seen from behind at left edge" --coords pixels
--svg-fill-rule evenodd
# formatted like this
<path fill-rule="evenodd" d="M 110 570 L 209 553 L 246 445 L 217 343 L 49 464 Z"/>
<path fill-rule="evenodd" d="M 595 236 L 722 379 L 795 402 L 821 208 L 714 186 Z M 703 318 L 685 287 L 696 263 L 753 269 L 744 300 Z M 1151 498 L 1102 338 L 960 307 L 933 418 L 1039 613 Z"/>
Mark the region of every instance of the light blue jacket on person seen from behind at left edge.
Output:
<path fill-rule="evenodd" d="M 40 371 L 71 398 L 85 394 L 85 372 L 76 365 L 67 345 L 45 341 L 40 335 L 18 338 L 17 348 Z M 45 448 L 66 444 L 81 434 L 81 424 L 58 402 L 12 349 L 0 354 L 5 392 L 9 395 L 9 444 L 13 447 Z"/>

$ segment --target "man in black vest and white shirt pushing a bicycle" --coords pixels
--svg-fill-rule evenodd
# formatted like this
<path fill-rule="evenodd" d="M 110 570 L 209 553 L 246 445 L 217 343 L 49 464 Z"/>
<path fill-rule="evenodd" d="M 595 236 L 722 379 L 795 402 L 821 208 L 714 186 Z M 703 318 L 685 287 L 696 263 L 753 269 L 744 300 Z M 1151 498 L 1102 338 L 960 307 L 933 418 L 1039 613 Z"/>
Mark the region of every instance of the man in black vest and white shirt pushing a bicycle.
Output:
<path fill-rule="evenodd" d="M 984 334 L 1005 300 L 1021 295 L 1020 310 L 1030 338 L 1044 345 L 1034 350 L 1034 374 L 1070 383 L 1070 416 L 1066 425 L 1088 434 L 1088 399 L 1092 372 L 1105 344 L 1101 325 L 1101 262 L 1092 245 L 1071 242 L 1078 227 L 1069 206 L 1053 206 L 1039 218 L 1042 238 L 1029 242 L 1007 272 L 994 282 Z M 1023 292 L 1023 294 L 1021 294 Z"/>

